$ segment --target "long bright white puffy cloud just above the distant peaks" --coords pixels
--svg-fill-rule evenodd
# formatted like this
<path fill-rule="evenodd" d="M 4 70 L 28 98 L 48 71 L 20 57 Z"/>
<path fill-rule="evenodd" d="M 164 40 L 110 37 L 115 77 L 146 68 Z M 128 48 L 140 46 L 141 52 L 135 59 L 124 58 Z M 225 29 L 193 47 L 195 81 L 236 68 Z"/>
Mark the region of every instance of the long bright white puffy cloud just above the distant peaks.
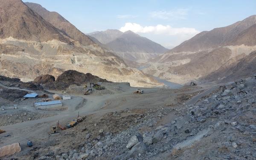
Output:
<path fill-rule="evenodd" d="M 141 26 L 137 23 L 125 23 L 125 26 L 122 26 L 119 29 L 121 32 L 126 32 L 131 30 L 135 33 L 153 33 L 153 34 L 163 34 L 163 35 L 196 35 L 199 33 L 195 28 L 174 28 L 169 25 L 158 24 L 157 26 Z"/>

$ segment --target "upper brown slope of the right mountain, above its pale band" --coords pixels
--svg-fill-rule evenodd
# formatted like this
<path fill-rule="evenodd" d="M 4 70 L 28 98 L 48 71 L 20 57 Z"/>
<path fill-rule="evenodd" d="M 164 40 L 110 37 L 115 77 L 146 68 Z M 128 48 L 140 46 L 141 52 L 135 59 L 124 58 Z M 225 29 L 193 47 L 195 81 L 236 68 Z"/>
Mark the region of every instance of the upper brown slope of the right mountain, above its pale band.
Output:
<path fill-rule="evenodd" d="M 197 52 L 228 44 L 243 44 L 245 38 L 242 39 L 241 36 L 245 34 L 245 30 L 249 29 L 254 24 L 256 24 L 256 15 L 247 17 L 246 19 L 233 23 L 230 26 L 201 32 L 193 38 L 184 41 L 182 44 L 169 50 L 169 52 Z"/>

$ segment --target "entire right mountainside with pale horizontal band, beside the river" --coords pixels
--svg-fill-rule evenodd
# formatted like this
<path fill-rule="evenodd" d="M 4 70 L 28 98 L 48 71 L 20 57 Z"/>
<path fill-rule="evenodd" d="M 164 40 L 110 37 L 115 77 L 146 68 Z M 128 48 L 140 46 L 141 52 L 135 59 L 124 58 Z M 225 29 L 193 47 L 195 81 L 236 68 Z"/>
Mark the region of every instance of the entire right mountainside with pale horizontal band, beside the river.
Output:
<path fill-rule="evenodd" d="M 204 31 L 151 59 L 143 71 L 176 83 L 190 81 L 228 81 L 249 76 L 250 58 L 256 50 L 256 15 L 230 26 Z M 241 72 L 236 72 L 238 67 Z M 240 70 L 240 69 L 239 69 Z M 222 74 L 222 73 L 226 73 Z"/>

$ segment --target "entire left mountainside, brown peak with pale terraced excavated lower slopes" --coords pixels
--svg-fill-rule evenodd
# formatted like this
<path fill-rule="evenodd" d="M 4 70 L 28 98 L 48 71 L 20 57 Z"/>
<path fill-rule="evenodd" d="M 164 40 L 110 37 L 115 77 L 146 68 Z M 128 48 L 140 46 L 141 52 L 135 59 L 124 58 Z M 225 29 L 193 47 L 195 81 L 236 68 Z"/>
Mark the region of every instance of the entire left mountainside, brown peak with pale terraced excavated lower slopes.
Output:
<path fill-rule="evenodd" d="M 33 6 L 43 10 L 40 13 L 47 20 L 21 0 L 0 0 L 0 75 L 32 81 L 40 75 L 57 78 L 65 70 L 76 70 L 108 81 L 130 82 L 131 86 L 162 85 L 128 67 L 57 13 Z M 59 25 L 49 23 L 50 18 L 43 13 Z"/>

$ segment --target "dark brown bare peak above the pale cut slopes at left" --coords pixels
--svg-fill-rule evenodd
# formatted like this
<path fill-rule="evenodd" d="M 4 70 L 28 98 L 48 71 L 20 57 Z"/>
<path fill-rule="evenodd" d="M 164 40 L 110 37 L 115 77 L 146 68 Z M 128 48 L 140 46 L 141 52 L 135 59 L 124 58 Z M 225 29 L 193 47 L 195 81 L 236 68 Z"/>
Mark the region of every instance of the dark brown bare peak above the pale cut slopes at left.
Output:
<path fill-rule="evenodd" d="M 24 5 L 21 0 L 0 0 L 0 38 L 31 41 L 58 40 L 70 43 L 49 22 Z"/>

